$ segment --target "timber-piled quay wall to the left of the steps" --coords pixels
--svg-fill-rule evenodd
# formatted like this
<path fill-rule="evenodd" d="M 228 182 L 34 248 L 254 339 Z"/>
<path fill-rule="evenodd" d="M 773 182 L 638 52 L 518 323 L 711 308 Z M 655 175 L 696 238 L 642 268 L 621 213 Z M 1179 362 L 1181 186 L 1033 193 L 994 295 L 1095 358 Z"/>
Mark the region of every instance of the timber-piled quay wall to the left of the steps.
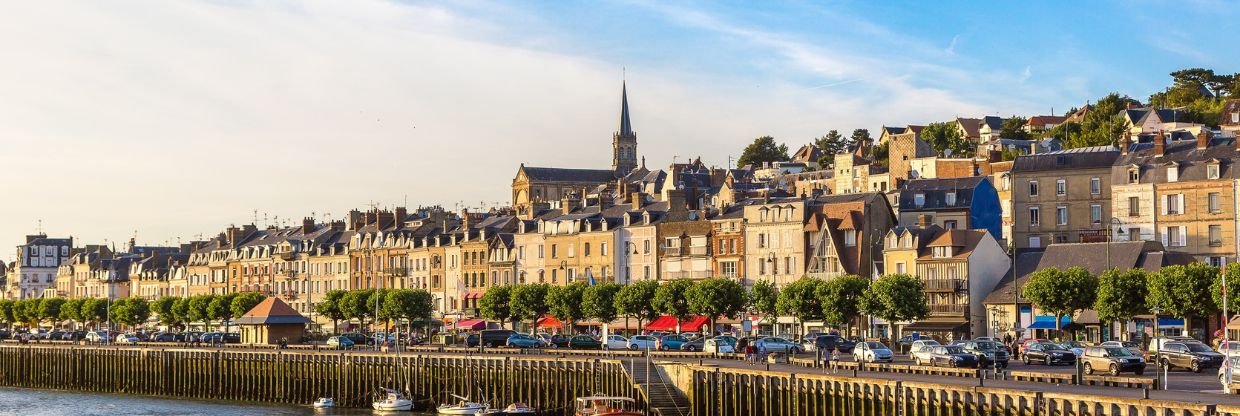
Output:
<path fill-rule="evenodd" d="M 458 394 L 547 415 L 572 414 L 578 396 L 639 396 L 619 361 L 585 358 L 33 345 L 0 345 L 0 386 L 347 407 L 384 386 L 423 409 Z"/>

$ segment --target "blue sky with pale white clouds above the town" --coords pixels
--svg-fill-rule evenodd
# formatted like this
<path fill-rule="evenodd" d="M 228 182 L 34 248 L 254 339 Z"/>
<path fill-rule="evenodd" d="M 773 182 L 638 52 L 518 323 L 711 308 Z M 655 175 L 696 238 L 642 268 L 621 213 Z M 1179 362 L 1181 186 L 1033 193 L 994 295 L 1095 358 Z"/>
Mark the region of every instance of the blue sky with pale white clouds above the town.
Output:
<path fill-rule="evenodd" d="M 758 135 L 1035 115 L 1240 72 L 1226 1 L 109 1 L 0 6 L 0 246 L 482 207 L 605 168 L 626 68 L 651 168 Z M 9 255 L 0 258 L 9 258 Z"/>

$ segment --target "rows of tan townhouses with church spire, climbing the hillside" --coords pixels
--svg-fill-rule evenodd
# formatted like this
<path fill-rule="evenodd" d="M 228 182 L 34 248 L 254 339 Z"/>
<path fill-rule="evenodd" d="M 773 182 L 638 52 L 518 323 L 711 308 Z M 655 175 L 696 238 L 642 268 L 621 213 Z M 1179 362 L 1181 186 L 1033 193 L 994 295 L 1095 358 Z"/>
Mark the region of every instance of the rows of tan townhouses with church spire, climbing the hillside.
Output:
<path fill-rule="evenodd" d="M 1035 134 L 1087 111 L 1034 117 L 1027 128 Z M 455 319 L 476 317 L 479 299 L 501 284 L 727 277 L 784 286 L 908 273 L 925 282 L 931 314 L 904 330 L 996 334 L 1045 324 L 1017 293 L 1038 268 L 1236 260 L 1240 104 L 1228 104 L 1218 129 L 1163 122 L 1176 117 L 1161 109 L 1122 115 L 1118 147 L 1009 140 L 997 117 L 960 118 L 978 156 L 939 154 L 909 125 L 883 128 L 885 160 L 863 143 L 828 165 L 807 145 L 784 163 L 719 169 L 694 159 L 651 170 L 625 89 L 611 168 L 522 164 L 508 207 L 355 210 L 340 221 L 228 226 L 180 247 L 77 247 L 36 235 L 0 272 L 10 298 L 260 292 L 311 317 L 327 291 L 418 288 L 434 296 L 439 317 Z M 1023 155 L 1003 160 L 1004 150 Z M 1076 323 L 1092 323 L 1091 334 L 1135 330 L 1083 315 Z M 877 319 L 856 328 L 892 329 Z"/>

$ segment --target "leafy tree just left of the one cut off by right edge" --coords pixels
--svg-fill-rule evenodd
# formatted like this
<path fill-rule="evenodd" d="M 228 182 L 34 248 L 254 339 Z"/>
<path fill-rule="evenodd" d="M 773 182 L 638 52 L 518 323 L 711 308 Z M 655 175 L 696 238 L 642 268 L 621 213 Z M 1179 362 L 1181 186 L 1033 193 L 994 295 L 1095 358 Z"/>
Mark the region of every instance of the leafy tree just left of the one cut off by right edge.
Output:
<path fill-rule="evenodd" d="M 1216 276 L 1218 267 L 1200 262 L 1163 267 L 1149 274 L 1149 297 L 1146 304 L 1149 309 L 1159 308 L 1166 314 L 1184 318 L 1184 329 L 1188 330 L 1192 318 L 1219 313 L 1219 305 L 1214 303 L 1210 292 Z"/>

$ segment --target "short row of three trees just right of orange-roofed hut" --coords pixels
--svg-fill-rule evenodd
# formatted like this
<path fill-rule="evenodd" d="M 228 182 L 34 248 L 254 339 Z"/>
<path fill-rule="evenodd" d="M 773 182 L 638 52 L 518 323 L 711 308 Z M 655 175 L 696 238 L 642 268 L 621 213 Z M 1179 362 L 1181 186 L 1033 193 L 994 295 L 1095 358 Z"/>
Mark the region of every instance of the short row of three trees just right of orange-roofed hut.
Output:
<path fill-rule="evenodd" d="M 363 327 L 367 322 L 407 319 L 412 328 L 417 320 L 430 319 L 434 302 L 423 289 L 329 291 L 315 312 L 331 319 L 334 330 L 345 319 L 357 319 Z"/>

